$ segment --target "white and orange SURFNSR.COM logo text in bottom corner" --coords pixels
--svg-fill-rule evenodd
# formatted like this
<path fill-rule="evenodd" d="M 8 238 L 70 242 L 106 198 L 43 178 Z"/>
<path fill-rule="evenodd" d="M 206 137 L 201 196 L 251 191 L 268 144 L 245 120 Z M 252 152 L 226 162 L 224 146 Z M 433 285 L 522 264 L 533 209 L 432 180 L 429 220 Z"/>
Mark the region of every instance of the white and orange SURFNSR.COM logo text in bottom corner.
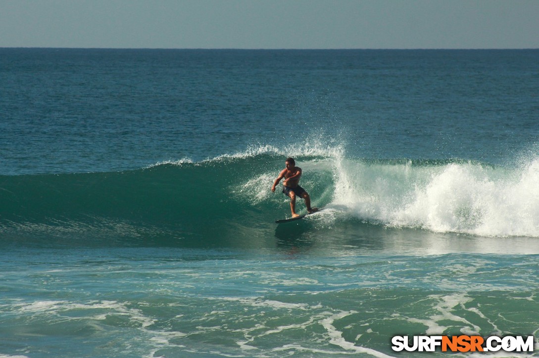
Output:
<path fill-rule="evenodd" d="M 507 335 L 504 337 L 479 335 L 396 335 L 391 339 L 395 352 L 533 352 L 534 336 Z"/>

